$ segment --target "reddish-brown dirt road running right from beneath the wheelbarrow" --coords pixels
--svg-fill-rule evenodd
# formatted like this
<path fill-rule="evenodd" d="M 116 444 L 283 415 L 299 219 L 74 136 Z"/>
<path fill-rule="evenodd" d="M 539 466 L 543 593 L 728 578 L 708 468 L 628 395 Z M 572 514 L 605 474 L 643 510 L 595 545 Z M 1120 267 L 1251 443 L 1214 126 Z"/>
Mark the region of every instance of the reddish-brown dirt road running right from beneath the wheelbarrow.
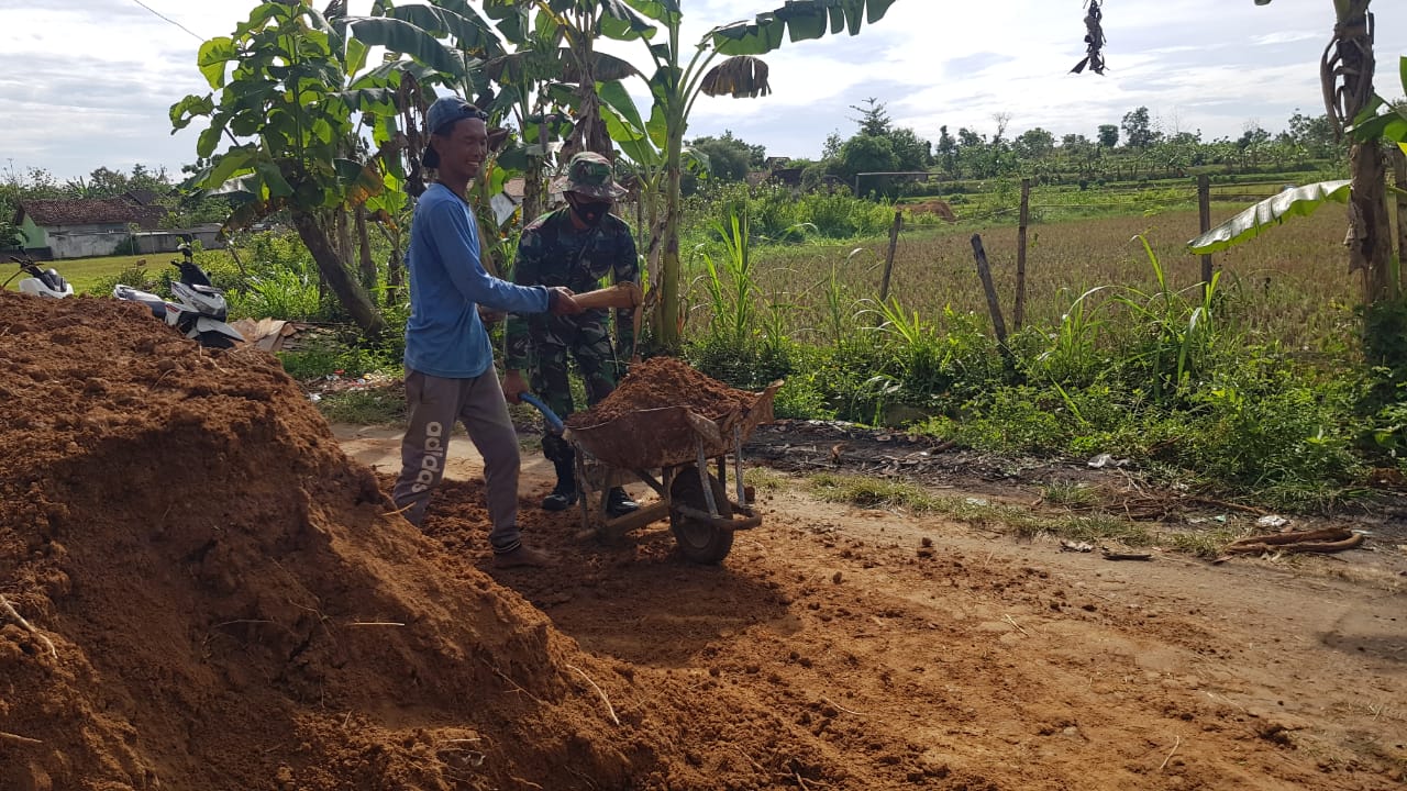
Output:
<path fill-rule="evenodd" d="M 395 470 L 395 432 L 336 434 L 349 456 Z M 1401 548 L 1114 563 L 796 484 L 763 491 L 763 528 L 722 567 L 698 567 L 658 526 L 604 546 L 574 512 L 536 511 L 549 481 L 525 460 L 525 529 L 561 562 L 494 576 L 590 653 L 763 702 L 809 730 L 830 768 L 777 760 L 765 723 L 701 766 L 784 766 L 779 788 L 1403 784 Z M 426 532 L 487 570 L 476 464 L 459 442 Z"/>

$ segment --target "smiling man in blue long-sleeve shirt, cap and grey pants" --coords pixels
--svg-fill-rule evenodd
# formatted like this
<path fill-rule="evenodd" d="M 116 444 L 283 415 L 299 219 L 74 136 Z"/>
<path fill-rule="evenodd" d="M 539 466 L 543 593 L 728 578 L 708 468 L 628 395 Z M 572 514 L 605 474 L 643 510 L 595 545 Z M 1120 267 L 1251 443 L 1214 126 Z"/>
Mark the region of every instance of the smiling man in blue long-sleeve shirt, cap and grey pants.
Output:
<path fill-rule="evenodd" d="M 478 305 L 511 312 L 581 312 L 567 289 L 525 287 L 484 272 L 478 227 L 464 200 L 488 156 L 487 117 L 456 97 L 431 106 L 431 144 L 422 162 L 436 172 L 411 222 L 407 269 L 411 318 L 405 322 L 405 400 L 409 425 L 401 441 L 401 477 L 391 497 L 412 524 L 425 518 L 445 474 L 449 435 L 464 422 L 484 457 L 488 543 L 499 566 L 543 566 L 550 557 L 523 546 L 518 531 L 518 435 L 508 417 L 494 350 Z"/>

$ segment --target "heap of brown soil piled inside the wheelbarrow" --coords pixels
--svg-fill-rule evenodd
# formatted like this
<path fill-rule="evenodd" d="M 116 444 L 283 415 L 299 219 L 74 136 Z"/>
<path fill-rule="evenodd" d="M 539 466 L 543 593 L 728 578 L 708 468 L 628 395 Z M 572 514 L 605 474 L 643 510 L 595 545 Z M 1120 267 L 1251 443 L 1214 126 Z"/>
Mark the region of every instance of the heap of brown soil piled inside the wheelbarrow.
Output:
<path fill-rule="evenodd" d="M 567 418 L 571 428 L 599 425 L 640 410 L 689 407 L 718 419 L 733 410 L 750 407 L 754 393 L 734 390 L 674 357 L 650 357 L 635 366 L 609 396 L 584 412 Z"/>

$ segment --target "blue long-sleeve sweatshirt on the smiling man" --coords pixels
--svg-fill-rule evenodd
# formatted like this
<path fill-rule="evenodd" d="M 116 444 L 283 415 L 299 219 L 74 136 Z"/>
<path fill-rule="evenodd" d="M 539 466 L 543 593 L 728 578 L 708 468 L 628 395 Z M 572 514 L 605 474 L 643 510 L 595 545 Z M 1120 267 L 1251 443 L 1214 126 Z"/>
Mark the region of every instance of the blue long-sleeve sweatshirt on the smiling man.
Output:
<path fill-rule="evenodd" d="M 405 367 L 443 379 L 473 379 L 494 365 L 478 305 L 543 312 L 547 289 L 515 286 L 484 272 L 478 227 L 469 205 L 445 184 L 431 184 L 415 205 L 411 249 L 411 318 L 405 322 Z"/>

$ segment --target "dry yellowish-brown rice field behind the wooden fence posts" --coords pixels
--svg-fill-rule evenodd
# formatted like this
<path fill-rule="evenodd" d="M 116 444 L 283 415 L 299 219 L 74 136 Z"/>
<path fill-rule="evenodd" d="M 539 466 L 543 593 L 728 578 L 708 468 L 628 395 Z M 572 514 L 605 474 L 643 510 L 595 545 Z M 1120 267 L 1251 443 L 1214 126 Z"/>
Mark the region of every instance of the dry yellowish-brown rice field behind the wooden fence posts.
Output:
<path fill-rule="evenodd" d="M 1244 207 L 1214 207 L 1213 222 L 1240 208 Z M 1289 349 L 1335 355 L 1354 346 L 1358 324 L 1352 305 L 1358 304 L 1361 279 L 1348 273 L 1345 229 L 1345 208 L 1327 205 L 1214 256 L 1221 272 L 1218 293 L 1227 308 L 1223 321 L 1230 319 L 1248 342 L 1279 341 Z M 1017 231 L 1012 225 L 975 231 L 982 235 L 1010 329 Z M 1057 327 L 1075 300 L 1096 287 L 1158 291 L 1154 267 L 1137 235 L 1148 239 L 1172 289 L 1196 289 L 1200 258 L 1189 255 L 1185 245 L 1197 231 L 1197 213 L 1188 210 L 1033 224 L 1026 265 L 1026 324 Z M 985 317 L 988 307 L 974 263 L 972 232 L 969 225 L 905 232 L 896 248 L 891 296 L 929 321 L 938 321 L 948 305 Z M 757 286 L 765 301 L 785 305 L 792 317 L 792 335 L 810 339 L 812 328 L 822 325 L 832 274 L 847 304 L 861 310 L 862 300 L 878 296 L 886 252 L 888 239 L 754 246 Z M 1093 300 L 1113 290 L 1106 289 Z M 689 301 L 695 314 L 706 310 L 701 286 L 689 289 Z M 691 321 L 691 327 L 699 327 Z"/>

